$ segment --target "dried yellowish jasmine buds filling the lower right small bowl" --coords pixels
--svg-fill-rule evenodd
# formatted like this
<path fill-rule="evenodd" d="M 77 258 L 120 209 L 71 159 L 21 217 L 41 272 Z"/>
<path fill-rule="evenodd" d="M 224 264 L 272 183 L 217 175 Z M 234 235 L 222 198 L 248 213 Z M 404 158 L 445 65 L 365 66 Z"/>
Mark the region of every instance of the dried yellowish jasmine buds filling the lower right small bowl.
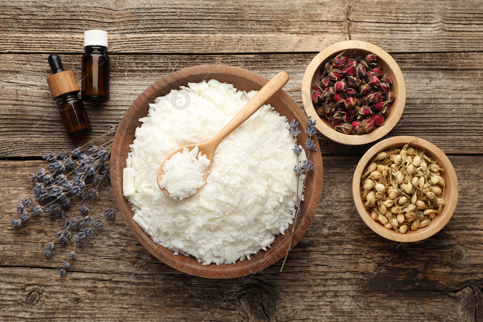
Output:
<path fill-rule="evenodd" d="M 371 218 L 399 234 L 426 227 L 444 206 L 444 169 L 409 144 L 378 153 L 361 178 Z"/>

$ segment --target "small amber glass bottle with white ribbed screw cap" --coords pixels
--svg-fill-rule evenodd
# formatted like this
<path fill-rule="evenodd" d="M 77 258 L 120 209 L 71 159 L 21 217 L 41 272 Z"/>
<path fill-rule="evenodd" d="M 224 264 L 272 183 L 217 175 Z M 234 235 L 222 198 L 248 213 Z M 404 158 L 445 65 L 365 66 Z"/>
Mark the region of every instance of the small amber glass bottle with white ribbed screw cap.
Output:
<path fill-rule="evenodd" d="M 82 56 L 82 100 L 107 102 L 109 100 L 109 56 L 107 32 L 84 32 L 85 54 Z"/>

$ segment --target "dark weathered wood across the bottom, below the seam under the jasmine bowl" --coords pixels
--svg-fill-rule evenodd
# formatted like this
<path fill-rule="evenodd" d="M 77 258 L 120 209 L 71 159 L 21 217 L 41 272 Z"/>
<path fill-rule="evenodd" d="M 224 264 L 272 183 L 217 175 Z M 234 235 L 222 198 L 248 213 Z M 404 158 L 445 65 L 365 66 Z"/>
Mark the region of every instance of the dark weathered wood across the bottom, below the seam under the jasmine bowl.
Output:
<path fill-rule="evenodd" d="M 37 246 L 52 234 L 54 219 L 9 225 L 16 203 L 31 194 L 28 173 L 45 163 L 6 161 L 0 166 L 3 320 L 59 321 L 69 312 L 81 321 L 482 321 L 483 296 L 470 292 L 483 284 L 483 159 L 450 159 L 461 187 L 453 218 L 435 236 L 399 245 L 374 234 L 355 212 L 350 187 L 358 158 L 325 157 L 321 205 L 285 272 L 277 263 L 236 284 L 147 260 L 120 216 L 106 224 L 112 239 L 86 240 L 60 278 L 59 261 L 70 248 L 59 246 L 46 259 Z M 377 263 L 384 269 L 372 275 Z"/>

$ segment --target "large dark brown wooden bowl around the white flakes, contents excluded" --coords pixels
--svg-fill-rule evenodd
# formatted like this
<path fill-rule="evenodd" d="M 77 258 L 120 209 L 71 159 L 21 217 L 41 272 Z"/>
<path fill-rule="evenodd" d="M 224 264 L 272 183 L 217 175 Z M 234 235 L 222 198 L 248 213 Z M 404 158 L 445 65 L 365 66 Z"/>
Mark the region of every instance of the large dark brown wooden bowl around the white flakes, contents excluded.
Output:
<path fill-rule="evenodd" d="M 207 278 L 226 279 L 254 274 L 283 258 L 292 235 L 292 225 L 285 230 L 284 235 L 278 235 L 275 238 L 267 251 L 261 250 L 255 255 L 251 255 L 251 260 L 238 260 L 230 265 L 202 265 L 194 257 L 187 257 L 182 254 L 174 255 L 174 252 L 154 242 L 142 230 L 139 224 L 132 220 L 134 212 L 131 210 L 128 200 L 123 196 L 122 190 L 122 174 L 123 169 L 126 167 L 129 144 L 132 144 L 134 140 L 134 131 L 138 126 L 141 126 L 139 119 L 145 117 L 148 113 L 148 104 L 154 103 L 154 99 L 157 97 L 167 95 L 172 89 L 179 89 L 181 85 L 186 86 L 191 82 L 199 83 L 202 80 L 210 79 L 216 79 L 222 83 L 234 84 L 237 89 L 247 92 L 259 90 L 268 82 L 265 77 L 252 71 L 226 65 L 202 65 L 185 68 L 168 74 L 156 81 L 156 83 L 149 86 L 134 100 L 119 125 L 114 138 L 111 155 L 111 183 L 119 212 L 128 225 L 129 230 L 146 250 L 162 262 L 187 274 Z M 307 116 L 305 116 L 298 104 L 284 90 L 280 90 L 275 96 L 270 98 L 268 103 L 280 115 L 286 116 L 289 122 L 292 119 L 296 119 L 301 125 L 300 127 L 304 128 Z M 302 133 L 298 136 L 298 144 L 301 144 L 305 148 L 304 141 L 307 139 L 307 134 L 302 130 Z M 317 140 L 314 141 L 317 142 Z M 318 143 L 317 151 L 320 151 Z M 313 153 L 311 154 L 311 159 L 315 165 L 315 170 L 308 176 L 305 184 L 305 200 L 301 203 L 301 212 L 293 238 L 294 246 L 310 227 L 322 193 L 322 156 L 320 153 Z"/>

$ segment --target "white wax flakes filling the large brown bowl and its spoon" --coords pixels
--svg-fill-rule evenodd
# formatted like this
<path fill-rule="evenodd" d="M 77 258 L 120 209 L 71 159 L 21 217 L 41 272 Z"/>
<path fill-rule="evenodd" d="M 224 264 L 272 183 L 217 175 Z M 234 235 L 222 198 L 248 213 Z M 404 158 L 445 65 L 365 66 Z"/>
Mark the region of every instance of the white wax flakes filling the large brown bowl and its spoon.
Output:
<path fill-rule="evenodd" d="M 213 138 L 255 94 L 213 79 L 189 83 L 156 98 L 148 116 L 140 119 L 123 172 L 124 195 L 133 220 L 175 254 L 194 256 L 204 265 L 250 260 L 292 223 L 302 178 L 293 171 L 296 142 L 287 119 L 270 105 L 218 144 L 201 188 L 201 168 L 209 161 L 203 163 L 199 151 L 183 151 L 179 162 L 173 161 L 167 190 L 184 196 L 183 187 L 198 187 L 195 194 L 173 199 L 158 186 L 157 171 L 168 154 Z M 186 108 L 173 106 L 180 95 L 189 102 Z M 298 158 L 302 161 L 305 154 Z"/>

